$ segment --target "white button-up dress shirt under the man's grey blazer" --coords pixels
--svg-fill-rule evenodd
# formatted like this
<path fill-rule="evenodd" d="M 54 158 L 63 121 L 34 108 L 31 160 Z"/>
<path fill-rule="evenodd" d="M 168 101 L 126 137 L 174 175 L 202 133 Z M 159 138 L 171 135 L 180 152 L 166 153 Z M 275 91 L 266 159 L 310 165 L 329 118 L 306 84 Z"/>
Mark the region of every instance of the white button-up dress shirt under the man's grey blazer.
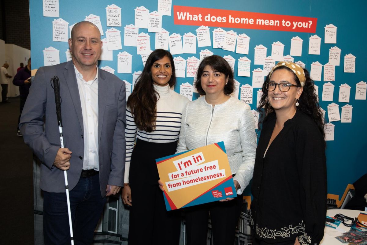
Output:
<path fill-rule="evenodd" d="M 76 80 L 83 114 L 84 158 L 83 170 L 99 171 L 98 158 L 98 68 L 95 78 L 86 81 L 76 69 Z"/>

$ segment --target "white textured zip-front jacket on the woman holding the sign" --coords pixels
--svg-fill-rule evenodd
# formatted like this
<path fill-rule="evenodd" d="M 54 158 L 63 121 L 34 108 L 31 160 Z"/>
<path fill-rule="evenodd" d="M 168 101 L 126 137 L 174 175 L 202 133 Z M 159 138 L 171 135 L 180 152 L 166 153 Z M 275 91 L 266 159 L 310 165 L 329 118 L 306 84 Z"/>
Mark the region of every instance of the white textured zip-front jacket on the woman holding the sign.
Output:
<path fill-rule="evenodd" d="M 250 106 L 230 97 L 222 104 L 208 104 L 205 96 L 189 102 L 182 114 L 177 152 L 224 141 L 233 177 L 242 194 L 252 179 L 255 163 L 255 121 Z"/>

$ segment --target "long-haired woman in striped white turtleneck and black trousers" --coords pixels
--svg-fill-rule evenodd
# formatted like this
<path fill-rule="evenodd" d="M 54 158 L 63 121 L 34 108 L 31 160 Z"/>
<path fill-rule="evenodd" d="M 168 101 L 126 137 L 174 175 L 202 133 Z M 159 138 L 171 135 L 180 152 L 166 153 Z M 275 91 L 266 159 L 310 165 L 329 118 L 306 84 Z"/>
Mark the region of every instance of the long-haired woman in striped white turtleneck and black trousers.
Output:
<path fill-rule="evenodd" d="M 188 98 L 170 87 L 176 83 L 170 52 L 157 49 L 145 63 L 126 109 L 126 167 L 123 203 L 130 207 L 129 245 L 178 244 L 181 215 L 166 211 L 155 159 L 176 151 L 181 116 Z M 136 144 L 135 144 L 136 141 Z M 132 201 L 134 197 L 134 201 Z M 141 234 L 142 223 L 144 235 Z M 166 231 L 161 234 L 162 228 Z"/>

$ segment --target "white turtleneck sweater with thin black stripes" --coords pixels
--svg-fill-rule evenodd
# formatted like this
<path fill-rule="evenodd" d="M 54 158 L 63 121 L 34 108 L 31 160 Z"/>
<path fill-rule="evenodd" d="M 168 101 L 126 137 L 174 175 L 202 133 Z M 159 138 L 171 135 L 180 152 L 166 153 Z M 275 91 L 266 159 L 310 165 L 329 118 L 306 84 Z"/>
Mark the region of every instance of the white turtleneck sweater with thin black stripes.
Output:
<path fill-rule="evenodd" d="M 126 109 L 126 160 L 125 160 L 125 183 L 129 182 L 129 170 L 132 150 L 136 138 L 154 143 L 170 143 L 178 140 L 181 130 L 181 116 L 183 108 L 189 99 L 171 90 L 170 86 L 154 85 L 159 94 L 157 101 L 156 128 L 152 132 L 146 132 L 137 128 L 134 115 L 129 108 Z"/>

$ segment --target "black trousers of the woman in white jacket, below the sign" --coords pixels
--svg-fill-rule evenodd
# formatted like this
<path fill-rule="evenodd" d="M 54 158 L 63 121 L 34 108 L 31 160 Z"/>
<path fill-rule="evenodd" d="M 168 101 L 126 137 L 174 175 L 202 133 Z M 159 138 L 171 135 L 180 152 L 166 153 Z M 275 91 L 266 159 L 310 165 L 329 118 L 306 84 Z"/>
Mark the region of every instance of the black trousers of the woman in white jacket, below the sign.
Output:
<path fill-rule="evenodd" d="M 235 243 L 243 194 L 228 202 L 211 202 L 185 209 L 187 245 L 206 245 L 210 212 L 214 245 Z"/>

